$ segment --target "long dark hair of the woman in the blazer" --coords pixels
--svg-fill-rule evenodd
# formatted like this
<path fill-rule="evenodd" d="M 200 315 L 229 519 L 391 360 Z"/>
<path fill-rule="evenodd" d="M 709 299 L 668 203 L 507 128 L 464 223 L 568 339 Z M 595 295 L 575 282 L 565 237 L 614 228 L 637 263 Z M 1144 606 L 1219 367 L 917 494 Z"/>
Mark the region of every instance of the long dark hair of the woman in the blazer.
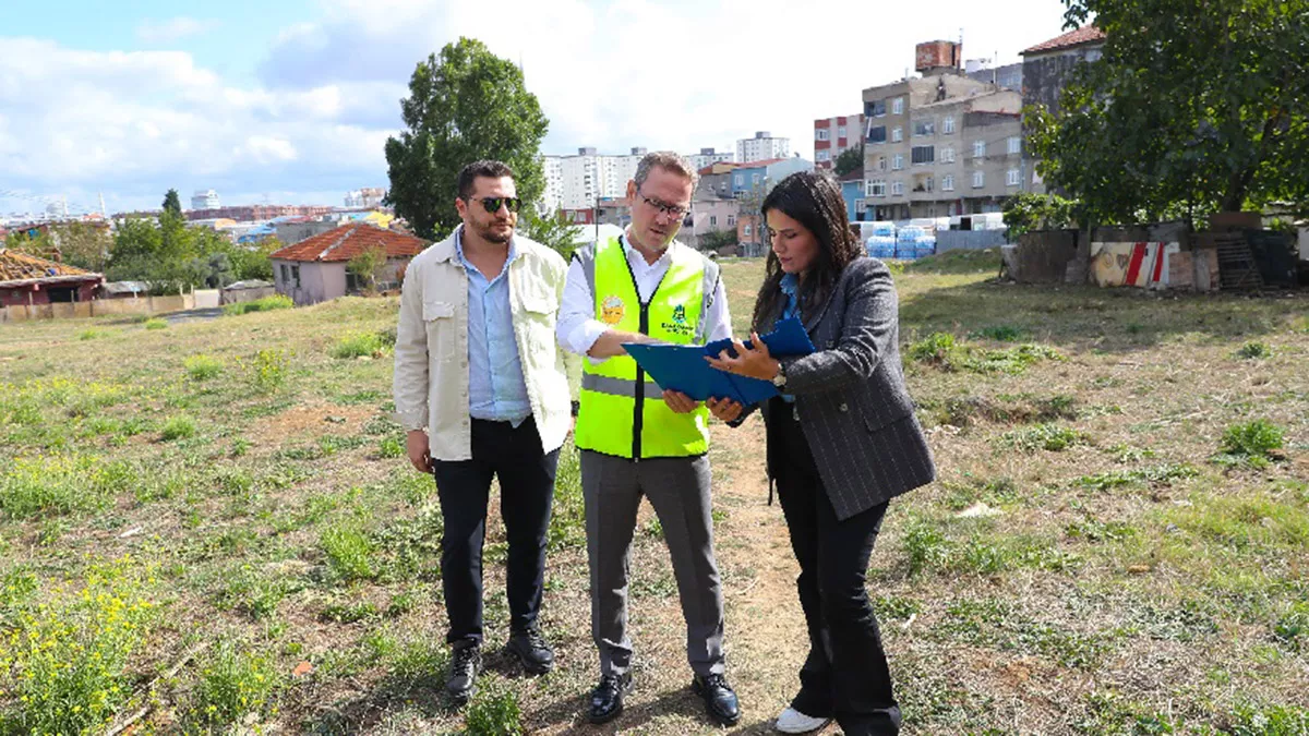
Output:
<path fill-rule="evenodd" d="M 835 288 L 840 272 L 851 261 L 863 255 L 864 250 L 850 229 L 840 186 L 826 173 L 797 172 L 781 179 L 763 198 L 759 212 L 764 220 L 770 210 L 796 220 L 818 240 L 818 255 L 800 282 L 800 313 L 808 316 L 812 309 L 822 306 Z M 781 293 L 783 275 L 785 274 L 781 271 L 781 262 L 770 249 L 763 285 L 759 287 L 759 297 L 754 303 L 755 330 L 763 330 L 764 321 L 781 312 L 785 299 Z"/>

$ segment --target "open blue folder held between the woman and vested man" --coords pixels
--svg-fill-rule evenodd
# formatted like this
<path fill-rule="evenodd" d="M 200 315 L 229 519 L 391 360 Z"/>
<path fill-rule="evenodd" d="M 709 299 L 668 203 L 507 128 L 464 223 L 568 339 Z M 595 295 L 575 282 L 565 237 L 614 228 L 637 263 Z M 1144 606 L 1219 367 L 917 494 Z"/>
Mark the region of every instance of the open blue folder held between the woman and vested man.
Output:
<path fill-rule="evenodd" d="M 771 333 L 759 335 L 759 339 L 775 358 L 809 355 L 814 351 L 804 325 L 796 318 L 778 322 Z M 750 340 L 745 340 L 745 344 L 749 346 Z M 724 350 L 736 356 L 730 339 L 704 346 L 627 343 L 623 347 L 661 389 L 682 392 L 695 401 L 730 398 L 742 406 L 750 406 L 778 396 L 778 386 L 772 381 L 733 376 L 704 360 Z"/>

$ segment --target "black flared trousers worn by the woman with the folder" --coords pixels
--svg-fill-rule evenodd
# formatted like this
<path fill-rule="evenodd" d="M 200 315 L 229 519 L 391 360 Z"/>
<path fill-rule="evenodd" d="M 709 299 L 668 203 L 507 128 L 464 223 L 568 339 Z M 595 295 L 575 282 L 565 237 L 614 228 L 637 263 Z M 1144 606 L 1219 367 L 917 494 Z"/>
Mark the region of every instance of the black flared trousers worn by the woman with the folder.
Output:
<path fill-rule="evenodd" d="M 796 587 L 809 629 L 809 657 L 791 707 L 835 718 L 847 736 L 898 733 L 899 705 L 865 588 L 886 504 L 838 521 L 792 406 L 772 401 L 768 457 L 800 562 Z"/>

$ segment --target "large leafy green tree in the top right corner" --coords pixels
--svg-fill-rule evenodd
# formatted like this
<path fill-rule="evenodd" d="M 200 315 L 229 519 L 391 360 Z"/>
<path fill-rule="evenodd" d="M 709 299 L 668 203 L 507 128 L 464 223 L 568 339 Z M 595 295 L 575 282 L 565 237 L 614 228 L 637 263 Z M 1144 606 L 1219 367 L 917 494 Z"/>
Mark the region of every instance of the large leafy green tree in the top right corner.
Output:
<path fill-rule="evenodd" d="M 1064 0 L 1103 56 L 1026 115 L 1038 172 L 1097 223 L 1309 210 L 1309 0 Z"/>

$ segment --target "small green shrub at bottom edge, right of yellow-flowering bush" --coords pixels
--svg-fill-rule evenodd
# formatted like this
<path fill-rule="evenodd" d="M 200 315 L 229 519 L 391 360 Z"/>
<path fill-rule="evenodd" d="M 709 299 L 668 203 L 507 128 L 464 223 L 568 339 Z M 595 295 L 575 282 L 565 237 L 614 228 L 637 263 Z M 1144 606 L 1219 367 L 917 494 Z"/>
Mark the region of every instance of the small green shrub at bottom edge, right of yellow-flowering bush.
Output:
<path fill-rule="evenodd" d="M 224 642 L 200 668 L 187 720 L 213 732 L 247 714 L 258 718 L 276 715 L 276 695 L 281 684 L 281 676 L 271 657 L 237 651 Z"/>

